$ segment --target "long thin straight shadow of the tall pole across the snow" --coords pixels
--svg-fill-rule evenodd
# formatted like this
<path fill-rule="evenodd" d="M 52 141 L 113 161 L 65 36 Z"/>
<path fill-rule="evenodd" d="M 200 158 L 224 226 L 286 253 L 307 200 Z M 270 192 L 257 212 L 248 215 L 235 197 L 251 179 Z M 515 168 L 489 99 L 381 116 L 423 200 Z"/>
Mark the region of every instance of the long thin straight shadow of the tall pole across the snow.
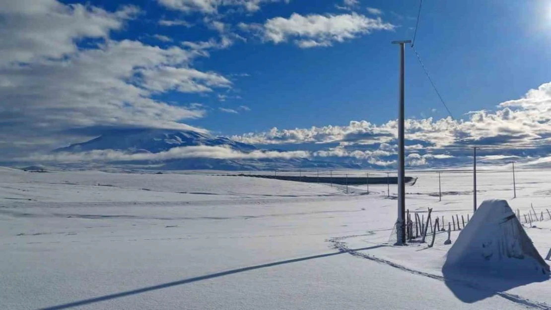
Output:
<path fill-rule="evenodd" d="M 112 299 L 119 298 L 119 297 L 126 297 L 126 296 L 136 295 L 136 294 L 139 294 L 139 293 L 145 293 L 145 292 L 149 292 L 149 291 L 166 289 L 167 287 L 172 287 L 172 286 L 188 284 L 188 283 L 196 282 L 196 281 L 202 281 L 202 280 L 218 278 L 219 276 L 242 273 L 244 271 L 250 271 L 250 270 L 267 268 L 267 267 L 274 267 L 274 266 L 283 265 L 283 264 L 297 263 L 297 262 L 302 262 L 303 260 L 329 257 L 329 256 L 344 254 L 344 253 L 348 253 L 348 252 L 363 251 L 363 250 L 375 249 L 375 248 L 379 248 L 379 247 L 383 247 L 383 246 L 372 246 L 372 247 L 361 248 L 361 249 L 351 249 L 349 251 L 341 251 L 341 252 L 334 252 L 334 253 L 328 253 L 328 254 L 314 255 L 314 256 L 308 256 L 308 257 L 282 260 L 280 262 L 274 262 L 274 263 L 268 263 L 268 264 L 262 264 L 262 265 L 255 265 L 255 266 L 250 266 L 250 267 L 245 267 L 245 268 L 238 268 L 238 269 L 223 271 L 221 273 L 197 276 L 195 278 L 189 278 L 189 279 L 184 279 L 184 280 L 179 280 L 179 281 L 174 281 L 174 282 L 168 282 L 168 283 L 154 285 L 154 286 L 142 287 L 141 289 L 125 291 L 125 292 L 120 292 L 120 293 L 114 293 L 114 294 L 110 294 L 110 295 L 94 297 L 94 298 L 89 298 L 89 299 L 85 299 L 85 300 L 79 300 L 79 301 L 69 302 L 69 303 L 64 303 L 64 304 L 58 304 L 57 306 L 41 308 L 40 310 L 60 310 L 60 309 L 67 309 L 67 308 L 72 308 L 72 307 L 79 307 L 79 306 L 84 306 L 85 304 L 112 300 Z"/>

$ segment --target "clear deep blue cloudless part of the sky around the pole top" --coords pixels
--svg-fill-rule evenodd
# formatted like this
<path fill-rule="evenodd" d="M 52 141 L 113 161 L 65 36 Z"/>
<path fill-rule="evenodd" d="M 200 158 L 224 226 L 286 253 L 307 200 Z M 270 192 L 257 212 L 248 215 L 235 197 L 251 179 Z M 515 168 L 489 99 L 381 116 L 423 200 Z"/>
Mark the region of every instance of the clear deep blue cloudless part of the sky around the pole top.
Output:
<path fill-rule="evenodd" d="M 73 3 L 74 1 L 66 1 Z M 85 3 L 85 2 L 83 2 Z M 93 5 L 116 10 L 124 1 L 93 1 Z M 143 40 L 153 45 L 171 46 L 179 41 L 204 41 L 217 36 L 207 28 L 201 12 L 182 13 L 155 3 L 134 1 L 144 9 L 141 17 L 129 21 L 117 39 Z M 224 23 L 262 23 L 292 13 L 344 14 L 336 1 L 269 3 L 259 12 L 235 13 L 222 17 Z M 214 70 L 234 77 L 233 89 L 216 94 L 168 93 L 164 98 L 176 102 L 199 102 L 211 108 L 251 108 L 247 113 L 228 115 L 210 112 L 208 117 L 188 123 L 219 134 L 265 131 L 272 127 L 295 128 L 345 125 L 350 120 L 374 123 L 396 117 L 397 48 L 391 40 L 413 36 L 418 1 L 360 1 L 354 11 L 368 17 L 367 7 L 382 10 L 381 18 L 393 31 L 375 31 L 331 47 L 298 48 L 292 43 L 262 43 L 237 40 L 229 48 L 210 52 L 197 59 L 194 67 Z M 417 50 L 435 83 L 458 118 L 463 113 L 495 110 L 500 102 L 520 97 L 528 89 L 548 81 L 549 53 L 543 42 L 551 39 L 549 23 L 541 16 L 537 1 L 425 1 L 417 37 Z M 548 14 L 549 15 L 549 14 Z M 158 20 L 185 20 L 196 24 L 161 26 Z M 170 37 L 160 42 L 153 35 Z M 546 38 L 547 36 L 547 38 Z M 542 48 L 537 48 L 537 47 Z M 534 48 L 536 47 L 536 48 Z M 447 113 L 420 68 L 412 51 L 407 51 L 407 116 L 446 117 Z M 229 98 L 219 101 L 217 94 Z M 236 96 L 241 98 L 235 99 Z M 433 109 L 436 109 L 433 112 Z M 269 117 L 267 117 L 269 116 Z"/>

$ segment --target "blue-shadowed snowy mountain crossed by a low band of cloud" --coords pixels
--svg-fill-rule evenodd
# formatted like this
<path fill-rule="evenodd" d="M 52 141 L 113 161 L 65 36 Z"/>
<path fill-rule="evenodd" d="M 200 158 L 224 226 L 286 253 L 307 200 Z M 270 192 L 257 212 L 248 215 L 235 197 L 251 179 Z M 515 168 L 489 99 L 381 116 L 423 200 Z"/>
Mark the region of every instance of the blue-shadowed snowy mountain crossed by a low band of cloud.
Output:
<path fill-rule="evenodd" d="M 256 146 L 225 137 L 189 130 L 141 129 L 101 135 L 84 143 L 59 148 L 53 153 L 80 153 L 95 150 L 115 150 L 125 154 L 160 153 L 182 146 L 223 146 L 240 153 L 258 151 Z M 310 160 L 306 158 L 212 159 L 188 157 L 166 160 L 113 161 L 109 166 L 152 168 L 155 170 L 281 170 L 293 168 L 361 168 L 358 164 Z M 97 167 L 95 164 L 94 167 Z"/>

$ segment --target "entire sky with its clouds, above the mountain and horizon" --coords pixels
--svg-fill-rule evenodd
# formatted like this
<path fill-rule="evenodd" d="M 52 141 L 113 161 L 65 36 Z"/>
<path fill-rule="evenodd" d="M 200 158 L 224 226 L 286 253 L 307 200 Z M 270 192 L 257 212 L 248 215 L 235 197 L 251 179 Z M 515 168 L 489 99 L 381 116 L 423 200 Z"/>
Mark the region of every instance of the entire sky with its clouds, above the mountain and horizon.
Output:
<path fill-rule="evenodd" d="M 390 42 L 412 39 L 419 1 L 0 4 L 4 157 L 121 128 L 208 130 L 371 164 L 395 157 Z M 456 121 L 408 47 L 409 153 L 507 145 L 547 155 L 550 30 L 551 1 L 424 0 L 415 48 Z"/>

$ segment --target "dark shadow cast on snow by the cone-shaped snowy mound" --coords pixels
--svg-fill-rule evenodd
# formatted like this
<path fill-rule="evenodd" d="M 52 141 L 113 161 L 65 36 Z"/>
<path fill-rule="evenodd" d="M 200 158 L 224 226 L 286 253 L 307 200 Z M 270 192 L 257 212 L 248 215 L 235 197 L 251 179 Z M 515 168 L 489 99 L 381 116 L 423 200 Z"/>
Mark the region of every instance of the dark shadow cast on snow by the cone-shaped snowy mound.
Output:
<path fill-rule="evenodd" d="M 442 275 L 444 275 L 446 286 L 453 292 L 453 295 L 466 303 L 477 302 L 494 295 L 507 298 L 500 293 L 518 286 L 549 280 L 549 275 L 546 274 L 528 275 L 518 272 L 504 272 L 500 275 L 468 274 L 446 264 L 442 267 Z"/>

